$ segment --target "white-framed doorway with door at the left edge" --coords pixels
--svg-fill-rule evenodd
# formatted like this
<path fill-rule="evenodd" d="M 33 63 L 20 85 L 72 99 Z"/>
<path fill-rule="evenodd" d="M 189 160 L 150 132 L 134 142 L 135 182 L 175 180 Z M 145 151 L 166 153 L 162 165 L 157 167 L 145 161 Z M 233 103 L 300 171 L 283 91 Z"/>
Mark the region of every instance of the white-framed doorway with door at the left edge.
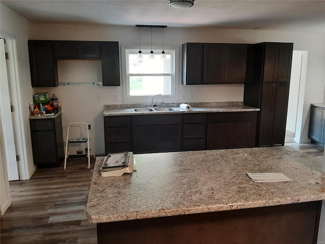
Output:
<path fill-rule="evenodd" d="M 16 40 L 3 34 L 1 38 L 1 49 L 8 53 L 1 57 L 0 89 L 2 136 L 4 137 L 8 179 L 29 179 Z"/>

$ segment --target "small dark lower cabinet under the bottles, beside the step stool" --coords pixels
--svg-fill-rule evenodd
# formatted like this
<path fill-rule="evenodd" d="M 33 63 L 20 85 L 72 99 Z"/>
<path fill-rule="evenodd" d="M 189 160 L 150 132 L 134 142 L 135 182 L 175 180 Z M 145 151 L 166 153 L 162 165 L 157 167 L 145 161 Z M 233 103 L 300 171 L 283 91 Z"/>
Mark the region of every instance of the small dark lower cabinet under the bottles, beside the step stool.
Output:
<path fill-rule="evenodd" d="M 38 168 L 59 167 L 64 160 L 62 117 L 30 119 L 34 164 Z"/>

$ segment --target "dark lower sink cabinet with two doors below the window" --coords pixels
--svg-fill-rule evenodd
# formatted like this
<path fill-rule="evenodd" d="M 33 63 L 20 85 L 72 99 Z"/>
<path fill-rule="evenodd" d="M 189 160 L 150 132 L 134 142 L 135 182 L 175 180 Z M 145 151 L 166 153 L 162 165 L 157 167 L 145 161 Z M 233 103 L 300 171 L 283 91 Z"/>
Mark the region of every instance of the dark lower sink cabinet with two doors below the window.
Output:
<path fill-rule="evenodd" d="M 133 153 L 182 150 L 182 115 L 138 115 L 133 117 Z"/>

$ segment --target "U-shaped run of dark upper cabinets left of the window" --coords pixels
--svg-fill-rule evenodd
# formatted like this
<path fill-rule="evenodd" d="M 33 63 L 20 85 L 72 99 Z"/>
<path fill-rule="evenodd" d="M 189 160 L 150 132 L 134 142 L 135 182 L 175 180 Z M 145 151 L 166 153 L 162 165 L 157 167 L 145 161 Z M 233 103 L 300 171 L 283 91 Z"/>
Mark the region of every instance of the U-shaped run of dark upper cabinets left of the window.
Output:
<path fill-rule="evenodd" d="M 57 59 L 102 60 L 103 86 L 119 86 L 118 42 L 28 41 L 32 87 L 58 86 Z"/>

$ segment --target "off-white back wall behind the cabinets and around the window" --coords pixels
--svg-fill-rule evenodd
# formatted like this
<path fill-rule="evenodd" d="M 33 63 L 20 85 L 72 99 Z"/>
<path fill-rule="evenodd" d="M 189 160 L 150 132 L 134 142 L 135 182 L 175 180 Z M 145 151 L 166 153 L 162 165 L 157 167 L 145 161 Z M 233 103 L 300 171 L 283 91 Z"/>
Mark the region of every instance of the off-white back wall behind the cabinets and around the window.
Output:
<path fill-rule="evenodd" d="M 142 32 L 141 36 L 142 45 L 150 44 L 150 34 L 147 35 L 145 32 Z M 181 51 L 181 44 L 185 42 L 258 43 L 269 41 L 293 42 L 295 50 L 308 51 L 309 59 L 302 136 L 302 138 L 308 141 L 310 103 L 322 102 L 324 99 L 324 36 L 323 34 L 312 33 L 168 27 L 165 29 L 165 49 L 168 49 L 168 46 L 178 46 Z M 138 47 L 138 38 L 139 30 L 134 26 L 31 24 L 29 32 L 29 39 L 35 40 L 118 41 L 120 45 L 133 45 L 136 48 Z M 152 42 L 154 48 L 161 47 L 161 34 L 154 33 L 153 31 Z M 179 60 L 180 64 L 181 60 Z M 73 68 L 72 66 L 68 68 L 68 71 L 75 72 L 76 76 L 80 73 L 78 80 L 80 78 L 80 81 L 82 81 L 81 79 L 84 76 L 82 70 L 85 71 L 87 68 Z M 59 67 L 59 74 L 67 71 L 67 69 L 65 71 L 61 71 L 60 69 L 62 68 Z M 74 69 L 79 69 L 80 72 L 76 72 Z M 68 76 L 64 74 L 61 76 L 61 79 L 70 79 L 67 78 Z M 180 78 L 181 75 L 179 73 Z M 101 77 L 97 79 L 100 81 Z M 184 86 L 178 80 L 177 88 L 179 98 L 181 98 L 180 94 L 185 94 L 185 100 L 179 100 L 180 102 L 243 101 L 243 85 Z M 34 89 L 34 92 L 42 90 L 44 89 Z M 50 94 L 55 93 L 60 100 L 63 112 L 63 127 L 66 127 L 71 121 L 77 120 L 86 121 L 94 125 L 92 133 L 95 141 L 96 154 L 103 154 L 103 105 L 122 104 L 122 87 L 59 86 L 46 88 L 46 90 Z M 189 99 L 192 93 L 194 94 L 194 100 Z M 113 100 L 114 95 L 117 95 L 118 98 L 116 102 Z M 101 102 L 97 101 L 98 96 L 101 97 Z"/>

